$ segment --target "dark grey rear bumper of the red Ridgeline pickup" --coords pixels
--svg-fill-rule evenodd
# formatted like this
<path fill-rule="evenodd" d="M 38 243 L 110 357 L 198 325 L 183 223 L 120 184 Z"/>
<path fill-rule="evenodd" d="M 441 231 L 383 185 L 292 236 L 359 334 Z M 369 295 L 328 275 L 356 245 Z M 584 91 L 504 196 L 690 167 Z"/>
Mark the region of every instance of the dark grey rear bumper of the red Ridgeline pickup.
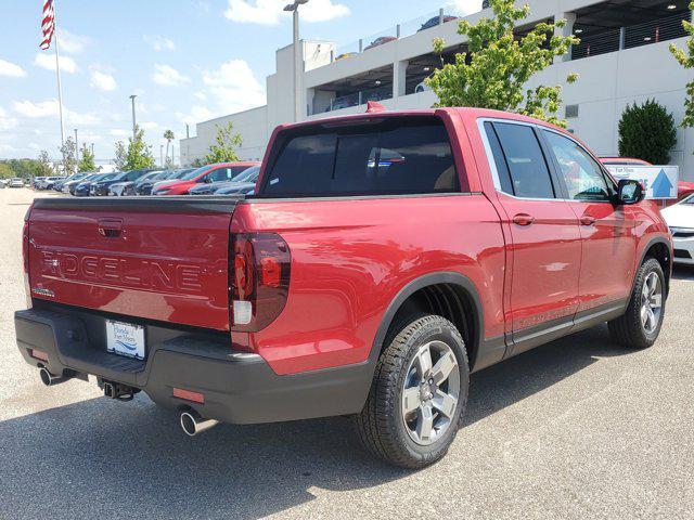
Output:
<path fill-rule="evenodd" d="M 219 335 L 147 325 L 146 361 L 105 349 L 104 317 L 98 314 L 27 310 L 15 313 L 17 347 L 25 361 L 51 374 L 87 374 L 143 390 L 168 408 L 195 410 L 233 424 L 274 422 L 361 411 L 371 385 L 368 364 L 277 375 L 257 354 L 234 352 Z M 31 349 L 48 355 L 33 358 Z M 198 404 L 174 398 L 172 389 L 203 393 Z"/>

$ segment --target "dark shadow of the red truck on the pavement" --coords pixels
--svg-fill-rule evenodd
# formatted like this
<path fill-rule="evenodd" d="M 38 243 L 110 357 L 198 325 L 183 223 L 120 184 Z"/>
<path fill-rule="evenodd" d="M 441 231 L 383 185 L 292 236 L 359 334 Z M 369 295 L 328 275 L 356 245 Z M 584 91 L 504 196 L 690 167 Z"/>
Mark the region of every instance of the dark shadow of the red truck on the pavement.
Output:
<path fill-rule="evenodd" d="M 625 353 L 597 327 L 475 374 L 465 422 L 544 390 L 597 356 Z M 344 417 L 220 425 L 190 439 L 177 414 L 141 394 L 131 403 L 99 398 L 5 420 L 0 444 L 2 518 L 60 511 L 91 519 L 250 519 L 308 503 L 314 491 L 367 490 L 409 474 L 363 453 Z"/>

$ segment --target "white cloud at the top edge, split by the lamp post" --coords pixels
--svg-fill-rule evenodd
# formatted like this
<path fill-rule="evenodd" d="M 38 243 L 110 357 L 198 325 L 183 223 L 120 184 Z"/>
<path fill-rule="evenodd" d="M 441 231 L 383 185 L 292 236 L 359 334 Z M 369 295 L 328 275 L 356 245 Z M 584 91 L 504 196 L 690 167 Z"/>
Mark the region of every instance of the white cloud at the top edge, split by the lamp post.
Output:
<path fill-rule="evenodd" d="M 232 22 L 277 25 L 280 16 L 287 15 L 283 11 L 287 0 L 229 0 L 229 8 L 224 16 Z M 299 8 L 299 14 L 305 22 L 327 22 L 329 20 L 348 16 L 349 8 L 333 0 L 311 0 L 311 4 Z"/>

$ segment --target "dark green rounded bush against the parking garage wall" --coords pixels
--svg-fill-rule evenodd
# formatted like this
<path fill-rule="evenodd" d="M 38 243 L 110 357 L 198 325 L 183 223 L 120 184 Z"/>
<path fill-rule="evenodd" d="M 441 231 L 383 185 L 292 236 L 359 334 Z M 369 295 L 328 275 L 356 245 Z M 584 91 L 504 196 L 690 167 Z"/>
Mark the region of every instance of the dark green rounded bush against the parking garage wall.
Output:
<path fill-rule="evenodd" d="M 619 120 L 619 155 L 647 160 L 653 165 L 670 162 L 670 150 L 677 143 L 674 118 L 655 100 L 627 106 Z"/>

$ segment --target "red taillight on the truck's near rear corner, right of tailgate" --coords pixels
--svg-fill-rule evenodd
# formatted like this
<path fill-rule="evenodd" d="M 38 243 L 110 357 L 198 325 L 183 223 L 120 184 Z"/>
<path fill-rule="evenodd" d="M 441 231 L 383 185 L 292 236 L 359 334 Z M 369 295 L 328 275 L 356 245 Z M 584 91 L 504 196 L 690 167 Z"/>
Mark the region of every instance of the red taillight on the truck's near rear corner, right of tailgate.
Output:
<path fill-rule="evenodd" d="M 234 234 L 229 266 L 232 329 L 256 332 L 267 327 L 286 303 L 290 247 L 275 233 Z"/>

